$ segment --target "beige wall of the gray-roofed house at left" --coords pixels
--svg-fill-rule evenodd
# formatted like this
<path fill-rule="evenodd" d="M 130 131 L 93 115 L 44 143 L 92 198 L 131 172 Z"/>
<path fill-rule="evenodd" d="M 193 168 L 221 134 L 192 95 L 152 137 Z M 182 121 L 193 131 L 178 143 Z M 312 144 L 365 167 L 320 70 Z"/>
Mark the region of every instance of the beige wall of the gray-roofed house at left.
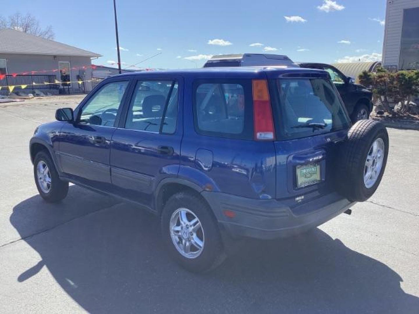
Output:
<path fill-rule="evenodd" d="M 57 56 L 54 59 L 54 56 L 44 56 L 44 55 L 24 55 L 24 54 L 0 54 L 0 59 L 7 60 L 7 69 L 8 74 L 12 73 L 21 73 L 21 72 L 30 72 L 30 71 L 40 71 L 40 70 L 49 70 L 49 69 L 58 69 L 59 61 L 68 61 L 70 62 L 70 67 L 83 67 L 89 66 L 89 68 L 82 69 L 80 71 L 84 72 L 84 79 L 92 79 L 92 69 L 90 68 L 91 59 L 90 57 L 63 57 Z M 57 80 L 60 80 L 59 72 L 45 72 L 37 74 L 46 74 L 46 75 L 56 75 Z M 71 70 L 71 80 L 76 81 L 77 75 L 79 75 L 79 70 Z M 78 88 L 78 83 L 73 83 L 72 88 Z M 88 92 L 92 90 L 92 83 L 85 83 L 85 90 Z"/>

